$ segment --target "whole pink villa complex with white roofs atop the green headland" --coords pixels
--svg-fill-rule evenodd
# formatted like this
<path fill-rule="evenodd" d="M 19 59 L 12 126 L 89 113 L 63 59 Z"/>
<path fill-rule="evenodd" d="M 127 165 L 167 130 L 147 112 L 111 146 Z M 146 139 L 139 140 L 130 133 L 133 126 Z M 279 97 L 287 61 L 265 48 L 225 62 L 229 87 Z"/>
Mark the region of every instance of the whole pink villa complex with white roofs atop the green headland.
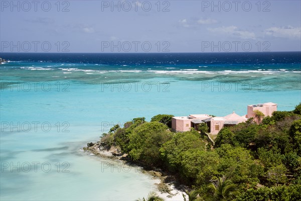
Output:
<path fill-rule="evenodd" d="M 265 103 L 257 105 L 249 105 L 247 107 L 247 115 L 239 116 L 235 112 L 225 117 L 212 117 L 209 115 L 189 115 L 184 117 L 172 118 L 172 130 L 176 132 L 189 131 L 190 128 L 196 129 L 201 123 L 207 123 L 211 134 L 218 134 L 223 127 L 230 127 L 241 122 L 247 121 L 254 116 L 254 111 L 258 110 L 266 116 L 272 116 L 277 111 L 277 104 Z"/>

